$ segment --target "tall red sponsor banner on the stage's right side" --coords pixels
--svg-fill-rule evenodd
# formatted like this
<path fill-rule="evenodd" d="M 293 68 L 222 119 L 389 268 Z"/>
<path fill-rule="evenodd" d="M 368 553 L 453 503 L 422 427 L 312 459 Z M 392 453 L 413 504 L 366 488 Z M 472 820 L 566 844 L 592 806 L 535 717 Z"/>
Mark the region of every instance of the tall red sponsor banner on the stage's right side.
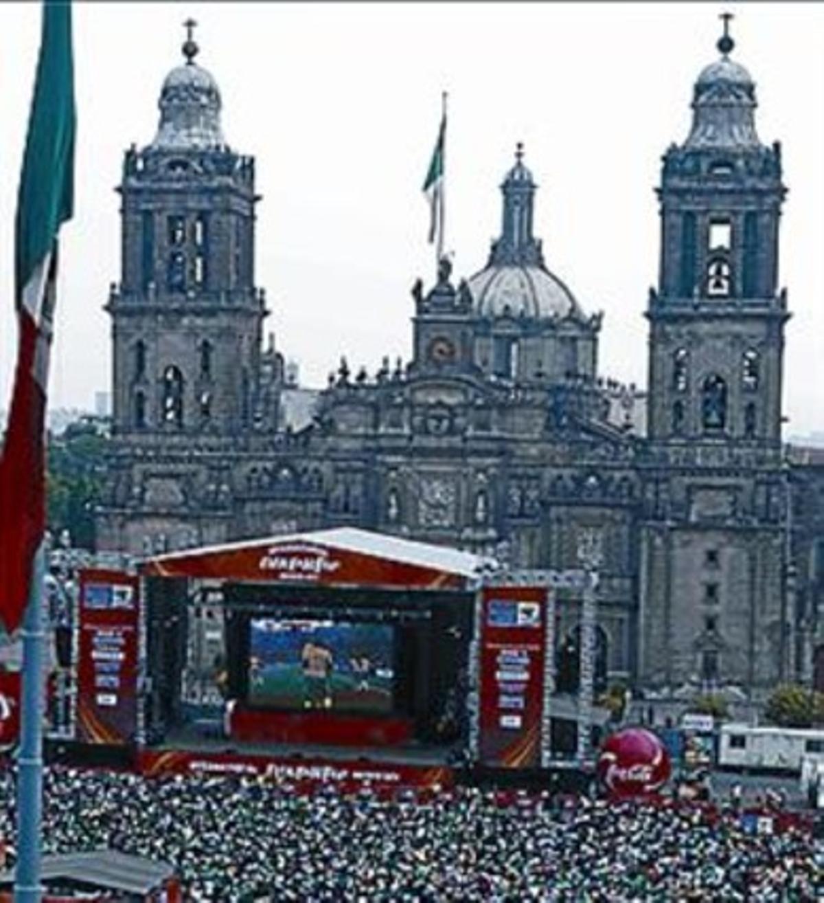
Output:
<path fill-rule="evenodd" d="M 486 587 L 481 600 L 480 760 L 541 765 L 544 587 Z"/>

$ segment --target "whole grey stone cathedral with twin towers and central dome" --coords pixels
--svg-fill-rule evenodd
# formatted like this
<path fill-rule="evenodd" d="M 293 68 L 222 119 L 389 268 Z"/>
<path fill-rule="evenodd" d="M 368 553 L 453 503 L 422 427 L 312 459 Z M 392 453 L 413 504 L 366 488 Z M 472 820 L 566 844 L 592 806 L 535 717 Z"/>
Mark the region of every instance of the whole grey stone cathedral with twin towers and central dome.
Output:
<path fill-rule="evenodd" d="M 117 189 L 98 547 L 362 526 L 566 569 L 594 530 L 602 684 L 757 704 L 824 682 L 824 461 L 782 445 L 781 146 L 756 132 L 726 32 L 718 51 L 662 158 L 644 392 L 598 374 L 602 316 L 551 272 L 520 145 L 486 265 L 461 278 L 445 259 L 412 286 L 412 359 L 341 358 L 311 391 L 264 337 L 255 160 L 227 144 L 190 35 Z M 579 600 L 559 592 L 574 648 Z"/>

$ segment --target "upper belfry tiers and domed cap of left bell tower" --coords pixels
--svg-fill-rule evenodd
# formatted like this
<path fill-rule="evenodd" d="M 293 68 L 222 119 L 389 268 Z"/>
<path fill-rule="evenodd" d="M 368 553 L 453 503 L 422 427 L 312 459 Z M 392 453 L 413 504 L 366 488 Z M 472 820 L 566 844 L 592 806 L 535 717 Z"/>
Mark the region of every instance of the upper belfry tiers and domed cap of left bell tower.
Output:
<path fill-rule="evenodd" d="M 195 62 L 171 70 L 151 144 L 125 153 L 114 338 L 118 436 L 234 434 L 249 425 L 260 366 L 255 162 L 230 150 L 220 92 Z M 185 440 L 184 440 L 185 441 Z"/>

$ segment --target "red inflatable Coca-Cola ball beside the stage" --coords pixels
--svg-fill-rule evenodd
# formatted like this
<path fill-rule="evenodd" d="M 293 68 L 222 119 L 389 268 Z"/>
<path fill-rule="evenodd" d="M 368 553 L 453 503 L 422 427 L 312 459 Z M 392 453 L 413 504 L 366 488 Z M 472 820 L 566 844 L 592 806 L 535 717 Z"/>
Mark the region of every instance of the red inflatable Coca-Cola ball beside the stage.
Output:
<path fill-rule="evenodd" d="M 654 794 L 670 773 L 670 756 L 662 741 L 643 728 L 611 734 L 598 755 L 597 777 L 611 796 Z"/>

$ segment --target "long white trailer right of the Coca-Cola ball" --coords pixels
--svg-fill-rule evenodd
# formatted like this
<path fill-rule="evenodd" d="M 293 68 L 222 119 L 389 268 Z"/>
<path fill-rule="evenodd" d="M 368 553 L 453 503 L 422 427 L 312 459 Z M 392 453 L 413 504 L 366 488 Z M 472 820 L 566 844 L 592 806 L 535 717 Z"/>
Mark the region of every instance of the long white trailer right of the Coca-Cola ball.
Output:
<path fill-rule="evenodd" d="M 824 730 L 774 725 L 723 724 L 718 741 L 720 768 L 801 772 L 805 755 L 824 753 Z"/>

